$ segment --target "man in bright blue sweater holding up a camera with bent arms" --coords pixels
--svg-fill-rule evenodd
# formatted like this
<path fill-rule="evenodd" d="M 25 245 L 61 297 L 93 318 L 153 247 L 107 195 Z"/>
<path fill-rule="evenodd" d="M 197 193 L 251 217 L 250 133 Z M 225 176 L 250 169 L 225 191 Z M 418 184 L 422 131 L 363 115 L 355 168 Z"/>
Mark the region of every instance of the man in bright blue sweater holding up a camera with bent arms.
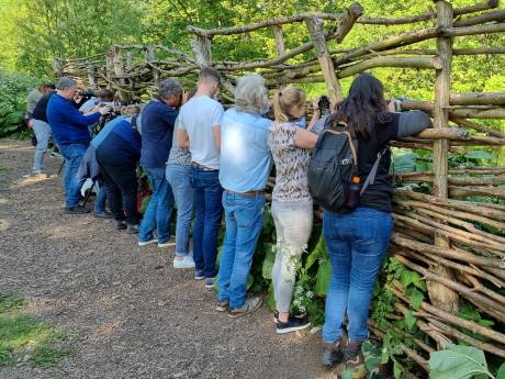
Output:
<path fill-rule="evenodd" d="M 53 137 L 65 159 L 64 189 L 67 212 L 87 213 L 89 211 L 79 205 L 80 186 L 76 174 L 91 141 L 88 125 L 100 120 L 110 109 L 99 107 L 96 112 L 83 115 L 71 103 L 76 92 L 77 83 L 74 79 L 59 78 L 56 93 L 50 97 L 47 104 L 46 114 Z"/>

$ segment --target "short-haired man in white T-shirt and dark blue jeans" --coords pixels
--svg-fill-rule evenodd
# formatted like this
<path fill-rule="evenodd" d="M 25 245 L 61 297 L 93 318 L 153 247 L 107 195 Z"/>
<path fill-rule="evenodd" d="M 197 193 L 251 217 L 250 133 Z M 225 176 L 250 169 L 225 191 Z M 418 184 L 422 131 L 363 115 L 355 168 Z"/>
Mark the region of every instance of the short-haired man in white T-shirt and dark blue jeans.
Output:
<path fill-rule="evenodd" d="M 217 234 L 223 215 L 220 185 L 221 121 L 224 109 L 213 97 L 220 89 L 220 73 L 211 67 L 200 70 L 197 93 L 179 113 L 177 143 L 189 147 L 192 158 L 191 186 L 194 193 L 193 228 L 194 278 L 214 288 L 217 274 Z"/>

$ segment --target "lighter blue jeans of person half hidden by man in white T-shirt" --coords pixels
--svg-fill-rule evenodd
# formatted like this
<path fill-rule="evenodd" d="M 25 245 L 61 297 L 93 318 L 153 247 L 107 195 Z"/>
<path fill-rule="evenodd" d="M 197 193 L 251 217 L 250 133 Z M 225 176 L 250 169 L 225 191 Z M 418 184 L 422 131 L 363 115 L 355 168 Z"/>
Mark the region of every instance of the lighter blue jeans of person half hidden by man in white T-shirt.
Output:
<path fill-rule="evenodd" d="M 189 234 L 193 219 L 191 166 L 169 164 L 165 176 L 172 188 L 177 207 L 176 255 L 188 255 L 190 252 Z"/>

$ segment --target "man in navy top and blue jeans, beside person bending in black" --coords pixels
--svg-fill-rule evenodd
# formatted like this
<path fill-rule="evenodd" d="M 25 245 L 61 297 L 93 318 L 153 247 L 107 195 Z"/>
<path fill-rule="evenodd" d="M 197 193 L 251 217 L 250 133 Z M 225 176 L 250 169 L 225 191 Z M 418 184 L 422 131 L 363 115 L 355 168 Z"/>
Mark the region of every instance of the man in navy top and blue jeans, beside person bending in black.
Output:
<path fill-rule="evenodd" d="M 159 83 L 158 98 L 150 100 L 142 112 L 141 166 L 149 179 L 153 196 L 141 223 L 138 246 L 150 243 L 158 243 L 159 247 L 175 245 L 170 242 L 173 193 L 165 170 L 181 98 L 181 85 L 177 80 L 164 80 Z M 155 230 L 158 231 L 157 238 Z"/>

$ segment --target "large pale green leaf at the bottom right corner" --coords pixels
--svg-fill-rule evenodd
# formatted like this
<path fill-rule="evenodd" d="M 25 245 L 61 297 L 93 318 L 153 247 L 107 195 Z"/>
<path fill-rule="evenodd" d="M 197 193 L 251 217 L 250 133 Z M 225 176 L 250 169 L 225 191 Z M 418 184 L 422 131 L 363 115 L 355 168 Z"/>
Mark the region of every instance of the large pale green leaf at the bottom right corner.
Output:
<path fill-rule="evenodd" d="M 485 379 L 484 352 L 473 346 L 449 345 L 429 355 L 430 379 Z"/>

